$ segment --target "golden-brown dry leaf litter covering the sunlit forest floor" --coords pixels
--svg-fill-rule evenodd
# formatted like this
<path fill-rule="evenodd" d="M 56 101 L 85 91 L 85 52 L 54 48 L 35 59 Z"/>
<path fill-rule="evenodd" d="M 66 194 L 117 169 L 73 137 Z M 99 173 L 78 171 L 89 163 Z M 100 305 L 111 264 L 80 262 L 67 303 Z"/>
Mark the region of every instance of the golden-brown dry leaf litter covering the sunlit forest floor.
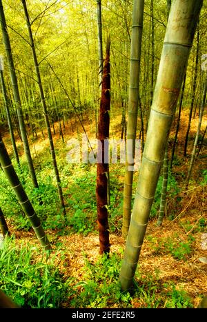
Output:
<path fill-rule="evenodd" d="M 119 139 L 120 134 L 120 115 L 114 117 L 111 120 L 111 133 L 117 139 Z M 192 119 L 192 125 L 190 130 L 190 139 L 188 144 L 188 154 L 190 154 L 193 147 L 193 138 L 195 137 L 195 132 L 197 130 L 198 117 Z M 86 132 L 90 133 L 90 136 L 94 135 L 95 137 L 95 126 L 91 125 L 86 121 L 83 122 Z M 204 131 L 204 128 L 207 123 L 207 116 L 204 116 L 204 121 L 202 123 L 201 131 Z M 118 125 L 119 126 L 118 126 Z M 178 163 L 173 166 L 173 171 L 177 175 L 177 181 L 180 188 L 184 188 L 184 179 L 186 177 L 186 172 L 188 170 L 187 158 L 183 157 L 183 144 L 184 137 L 186 133 L 187 125 L 187 112 L 183 111 L 181 115 L 181 127 L 179 132 L 179 142 L 176 148 L 177 158 L 186 160 L 182 162 L 181 165 Z M 75 128 L 75 124 L 74 124 Z M 57 148 L 57 160 L 58 163 L 66 162 L 66 142 L 71 137 L 76 137 L 77 132 L 72 133 L 70 124 L 66 125 L 66 128 L 63 130 L 65 143 L 61 141 L 58 133 L 58 125 L 56 124 L 56 133 L 54 135 L 55 147 Z M 79 133 L 81 133 L 81 127 L 79 125 Z M 170 138 L 174 138 L 175 134 L 175 123 L 172 124 L 172 131 Z M 37 156 L 44 158 L 49 158 L 49 148 L 48 140 L 40 136 L 38 140 L 34 140 L 35 150 Z M 10 139 L 8 134 L 5 137 L 6 145 L 8 150 L 10 150 L 10 145 L 8 145 Z M 18 140 L 17 140 L 18 141 Z M 32 146 L 32 145 L 31 145 Z M 18 147 L 20 148 L 20 142 L 18 141 Z M 203 146 L 201 154 L 206 154 L 205 151 L 206 145 Z M 22 147 L 21 147 L 22 149 Z M 38 164 L 39 157 L 35 157 L 34 149 L 32 148 L 32 154 L 34 156 L 34 162 Z M 24 159 L 24 156 L 23 156 Z M 118 171 L 115 168 L 117 165 L 111 167 L 111 171 Z M 146 279 L 148 281 L 152 280 L 153 285 L 156 285 L 155 293 L 159 294 L 161 290 L 165 290 L 166 293 L 169 288 L 169 283 L 175 283 L 177 289 L 184 289 L 193 300 L 194 307 L 197 307 L 200 296 L 207 292 L 206 286 L 206 263 L 201 263 L 199 258 L 206 257 L 206 249 L 202 248 L 201 240 L 206 228 L 199 228 L 198 223 L 202 220 L 207 220 L 205 201 L 206 201 L 206 187 L 200 185 L 201 181 L 201 172 L 200 169 L 205 169 L 205 159 L 199 159 L 199 163 L 195 163 L 193 170 L 193 183 L 189 185 L 189 190 L 182 190 L 179 193 L 179 203 L 177 203 L 177 196 L 168 199 L 167 205 L 167 218 L 164 219 L 164 224 L 161 228 L 156 226 L 156 218 L 150 219 L 148 223 L 148 228 L 146 231 L 146 238 L 144 239 L 144 244 L 141 249 L 141 255 L 139 259 L 138 272 L 139 277 L 141 278 L 140 283 Z M 76 170 L 76 169 L 74 169 Z M 84 177 L 84 171 L 88 170 L 78 170 L 77 174 L 75 173 L 75 178 Z M 95 175 L 95 166 L 92 166 L 91 172 L 94 172 Z M 115 174 L 115 175 L 116 175 Z M 52 168 L 47 168 L 47 176 L 53 176 Z M 68 177 L 68 174 L 61 174 L 63 181 L 70 184 L 73 183 L 74 177 Z M 137 181 L 137 173 L 135 173 L 135 182 Z M 124 183 L 124 165 L 123 169 L 118 174 L 119 179 L 119 190 L 123 191 Z M 80 193 L 85 194 L 84 191 Z M 69 194 L 72 204 L 72 194 L 70 193 L 70 188 L 63 186 L 64 194 Z M 88 199 L 88 203 L 90 200 Z M 120 205 L 119 205 L 120 207 Z M 74 207 L 75 208 L 75 207 Z M 75 209 L 71 205 L 66 208 L 69 214 L 75 212 Z M 83 212 L 84 212 L 83 208 Z M 95 212 L 95 210 L 94 210 Z M 117 210 L 119 213 L 121 221 L 121 208 Z M 173 219 L 169 219 L 170 215 L 174 214 Z M 10 220 L 8 220 L 10 223 Z M 25 245 L 35 245 L 38 249 L 40 246 L 34 241 L 34 233 L 32 230 L 23 231 L 15 230 L 14 226 L 10 224 L 10 230 L 14 233 L 15 240 L 17 244 L 23 243 Z M 86 278 L 86 259 L 95 265 L 98 261 L 99 255 L 99 236 L 98 232 L 89 232 L 86 236 L 83 234 L 74 233 L 70 231 L 70 226 L 66 228 L 66 231 L 63 233 L 64 228 L 59 229 L 48 229 L 46 233 L 52 243 L 52 253 L 51 258 L 54 259 L 55 265 L 63 272 L 64 279 L 74 278 L 74 285 L 78 281 L 84 281 Z M 111 254 L 117 254 L 120 258 L 123 256 L 124 252 L 124 239 L 121 237 L 121 230 L 112 232 L 110 234 L 110 243 L 111 243 Z M 41 256 L 41 255 L 39 255 Z M 138 278 L 139 283 L 139 278 Z M 77 290 L 81 292 L 82 286 L 80 285 Z M 71 297 L 72 298 L 72 297 Z M 70 302 L 68 299 L 68 303 Z M 139 308 L 144 307 L 145 303 L 143 299 L 132 299 L 132 307 Z M 63 307 L 67 308 L 70 304 L 63 303 Z M 116 304 L 111 304 L 111 308 L 115 308 Z"/>

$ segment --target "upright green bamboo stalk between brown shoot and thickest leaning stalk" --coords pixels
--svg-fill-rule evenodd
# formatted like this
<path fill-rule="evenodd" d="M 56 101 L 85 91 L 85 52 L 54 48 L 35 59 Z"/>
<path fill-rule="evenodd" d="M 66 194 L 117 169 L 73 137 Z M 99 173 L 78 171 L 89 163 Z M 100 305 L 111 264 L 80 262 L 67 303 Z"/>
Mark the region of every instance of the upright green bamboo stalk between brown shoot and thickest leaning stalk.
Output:
<path fill-rule="evenodd" d="M 135 139 L 137 132 L 137 110 L 139 103 L 139 74 L 141 58 L 141 37 L 143 30 L 144 0 L 134 0 L 132 11 L 132 41 L 130 52 L 130 84 L 128 98 L 128 123 L 127 142 L 132 140 L 132 151 L 130 145 L 126 145 L 126 172 L 124 179 L 124 205 L 122 235 L 126 237 L 130 225 L 133 160 L 135 159 Z"/>

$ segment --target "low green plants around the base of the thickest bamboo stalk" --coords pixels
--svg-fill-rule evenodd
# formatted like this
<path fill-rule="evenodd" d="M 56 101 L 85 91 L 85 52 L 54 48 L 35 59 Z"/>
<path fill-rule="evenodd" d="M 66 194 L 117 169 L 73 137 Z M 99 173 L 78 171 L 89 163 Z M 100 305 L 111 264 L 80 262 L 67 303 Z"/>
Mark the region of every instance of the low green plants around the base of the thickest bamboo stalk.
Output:
<path fill-rule="evenodd" d="M 121 250 L 121 254 L 123 250 Z M 163 283 L 159 272 L 135 274 L 132 292 L 121 292 L 119 272 L 120 254 L 100 256 L 96 262 L 85 258 L 82 281 L 75 284 L 71 296 L 72 308 L 192 308 L 193 304 L 184 290 Z"/>

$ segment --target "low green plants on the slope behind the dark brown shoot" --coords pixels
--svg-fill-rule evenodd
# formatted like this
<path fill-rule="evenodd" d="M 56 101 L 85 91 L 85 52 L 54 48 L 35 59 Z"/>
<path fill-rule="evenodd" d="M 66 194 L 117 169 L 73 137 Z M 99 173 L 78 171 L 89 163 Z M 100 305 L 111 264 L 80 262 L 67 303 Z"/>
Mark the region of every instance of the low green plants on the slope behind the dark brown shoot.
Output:
<path fill-rule="evenodd" d="M 57 158 L 59 158 L 59 153 L 60 152 L 57 151 Z M 66 221 L 59 204 L 55 174 L 52 170 L 51 161 L 47 153 L 42 154 L 41 156 L 41 167 L 39 167 L 39 165 L 37 166 L 39 188 L 33 188 L 26 162 L 21 163 L 21 169 L 17 166 L 15 166 L 15 169 L 17 170 L 19 179 L 28 194 L 34 210 L 41 220 L 43 228 L 63 230 L 63 228 L 66 227 Z M 88 167 L 90 167 L 90 169 Z M 95 165 L 61 163 L 59 168 L 61 185 L 65 188 L 63 193 L 67 204 L 70 232 L 79 232 L 86 235 L 88 232 L 97 230 Z M 110 230 L 112 232 L 117 232 L 121 231 L 123 197 L 123 190 L 120 188 L 120 180 L 117 174 L 121 173 L 122 168 L 120 170 L 119 167 L 117 168 L 117 165 L 112 165 L 112 168 L 112 174 L 110 175 L 110 207 L 108 208 L 108 212 Z M 0 203 L 1 205 L 6 205 L 6 208 L 3 208 L 6 218 L 11 220 L 15 229 L 30 230 L 30 222 L 23 214 L 15 194 L 12 188 L 10 188 L 10 185 L 8 185 L 8 181 L 3 172 L 0 172 L 0 185 Z M 88 202 L 89 200 L 90 202 Z"/>

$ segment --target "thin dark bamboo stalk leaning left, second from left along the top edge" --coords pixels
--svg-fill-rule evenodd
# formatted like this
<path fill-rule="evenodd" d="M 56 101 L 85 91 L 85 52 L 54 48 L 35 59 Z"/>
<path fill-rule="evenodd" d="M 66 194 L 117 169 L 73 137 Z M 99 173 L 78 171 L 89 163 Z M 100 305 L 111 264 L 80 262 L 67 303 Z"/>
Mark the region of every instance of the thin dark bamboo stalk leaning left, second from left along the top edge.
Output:
<path fill-rule="evenodd" d="M 46 127 L 48 130 L 48 139 L 49 139 L 49 143 L 50 143 L 50 153 L 51 153 L 51 157 L 52 157 L 52 163 L 53 163 L 53 168 L 55 171 L 55 177 L 56 177 L 56 181 L 57 181 L 57 190 L 59 193 L 59 200 L 61 202 L 61 207 L 63 208 L 63 214 L 64 216 L 66 216 L 66 208 L 65 208 L 65 203 L 63 200 L 63 192 L 62 192 L 62 188 L 61 188 L 61 179 L 59 177 L 59 170 L 57 168 L 57 161 L 56 161 L 56 155 L 55 155 L 55 147 L 54 147 L 54 143 L 53 143 L 53 139 L 52 139 L 52 133 L 51 133 L 51 129 L 50 129 L 50 121 L 49 121 L 49 117 L 48 117 L 48 109 L 46 106 L 46 100 L 45 100 L 45 96 L 44 96 L 44 92 L 43 92 L 43 86 L 41 83 L 41 74 L 39 72 L 39 63 L 37 61 L 37 54 L 36 54 L 36 50 L 34 48 L 34 39 L 33 39 L 33 35 L 32 35 L 32 29 L 31 29 L 31 24 L 30 24 L 30 17 L 28 14 L 28 9 L 26 6 L 26 0 L 21 0 L 22 4 L 23 4 L 23 10 L 25 13 L 25 17 L 26 17 L 26 23 L 27 23 L 27 27 L 28 27 L 28 34 L 29 34 L 29 38 L 30 38 L 30 46 L 32 48 L 32 57 L 34 60 L 34 67 L 35 67 L 35 71 L 37 74 L 37 81 L 38 81 L 38 85 L 39 85 L 39 94 L 41 97 L 41 104 L 42 104 L 42 108 L 43 108 L 43 114 L 45 117 L 45 121 L 46 121 Z"/>

